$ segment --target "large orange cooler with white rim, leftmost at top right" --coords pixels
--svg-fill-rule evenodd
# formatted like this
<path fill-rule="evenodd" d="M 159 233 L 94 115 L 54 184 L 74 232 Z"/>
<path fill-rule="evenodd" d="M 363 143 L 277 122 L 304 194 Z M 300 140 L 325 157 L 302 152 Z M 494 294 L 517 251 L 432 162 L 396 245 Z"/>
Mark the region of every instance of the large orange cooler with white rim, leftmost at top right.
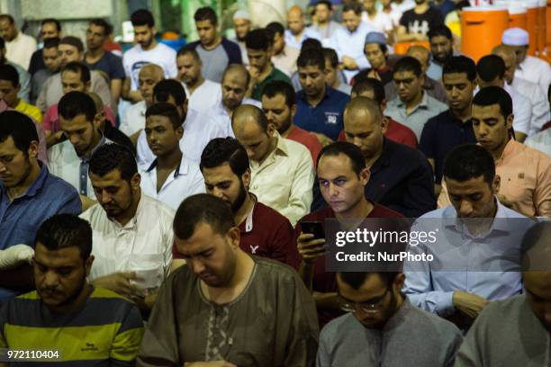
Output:
<path fill-rule="evenodd" d="M 501 34 L 509 28 L 507 8 L 497 6 L 469 6 L 463 8 L 461 18 L 461 52 L 478 61 L 501 43 Z"/>

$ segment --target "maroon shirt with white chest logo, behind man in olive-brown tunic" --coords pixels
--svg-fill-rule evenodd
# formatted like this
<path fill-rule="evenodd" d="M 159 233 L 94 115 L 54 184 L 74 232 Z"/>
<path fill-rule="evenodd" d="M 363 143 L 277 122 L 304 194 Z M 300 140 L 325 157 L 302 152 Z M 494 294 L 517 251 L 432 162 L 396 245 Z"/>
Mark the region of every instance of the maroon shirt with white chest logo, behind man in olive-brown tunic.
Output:
<path fill-rule="evenodd" d="M 293 244 L 293 226 L 283 215 L 276 210 L 255 202 L 248 216 L 239 224 L 241 240 L 239 247 L 248 255 L 257 255 L 278 260 L 284 264 L 291 264 L 292 251 L 296 252 Z M 178 252 L 176 244 L 172 247 L 175 259 L 183 258 Z"/>

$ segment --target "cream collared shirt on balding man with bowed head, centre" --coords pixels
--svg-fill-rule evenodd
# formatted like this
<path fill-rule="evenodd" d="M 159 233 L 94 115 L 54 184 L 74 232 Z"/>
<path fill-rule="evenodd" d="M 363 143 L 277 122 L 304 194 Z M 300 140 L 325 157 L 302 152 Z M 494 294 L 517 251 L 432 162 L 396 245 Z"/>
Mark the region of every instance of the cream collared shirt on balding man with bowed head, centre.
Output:
<path fill-rule="evenodd" d="M 250 192 L 294 225 L 312 204 L 312 156 L 302 144 L 281 138 L 277 131 L 274 137 L 276 148 L 264 162 L 250 161 Z"/>

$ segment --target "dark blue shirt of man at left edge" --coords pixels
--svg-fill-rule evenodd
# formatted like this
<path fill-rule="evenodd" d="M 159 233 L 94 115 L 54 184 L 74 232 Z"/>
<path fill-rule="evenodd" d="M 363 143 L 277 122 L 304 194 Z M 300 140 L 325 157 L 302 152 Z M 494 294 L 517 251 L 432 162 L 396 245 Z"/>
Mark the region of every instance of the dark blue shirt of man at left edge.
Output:
<path fill-rule="evenodd" d="M 14 201 L 10 201 L 4 183 L 0 182 L 0 250 L 19 244 L 33 247 L 44 220 L 58 213 L 78 215 L 81 211 L 77 189 L 51 175 L 42 163 L 38 178 Z M 0 303 L 14 294 L 0 288 Z"/>

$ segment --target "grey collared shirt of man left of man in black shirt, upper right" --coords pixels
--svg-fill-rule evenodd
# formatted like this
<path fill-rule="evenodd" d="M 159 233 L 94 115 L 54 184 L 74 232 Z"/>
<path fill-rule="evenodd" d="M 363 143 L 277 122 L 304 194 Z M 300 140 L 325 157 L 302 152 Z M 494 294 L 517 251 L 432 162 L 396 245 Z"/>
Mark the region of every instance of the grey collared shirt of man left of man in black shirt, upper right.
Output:
<path fill-rule="evenodd" d="M 420 103 L 416 105 L 409 114 L 406 112 L 405 103 L 403 103 L 400 98 L 394 98 L 389 102 L 384 113 L 413 130 L 417 139 L 420 140 L 420 134 L 425 123 L 427 123 L 431 117 L 446 110 L 446 104 L 437 101 L 429 94 L 423 92 L 423 98 Z"/>

